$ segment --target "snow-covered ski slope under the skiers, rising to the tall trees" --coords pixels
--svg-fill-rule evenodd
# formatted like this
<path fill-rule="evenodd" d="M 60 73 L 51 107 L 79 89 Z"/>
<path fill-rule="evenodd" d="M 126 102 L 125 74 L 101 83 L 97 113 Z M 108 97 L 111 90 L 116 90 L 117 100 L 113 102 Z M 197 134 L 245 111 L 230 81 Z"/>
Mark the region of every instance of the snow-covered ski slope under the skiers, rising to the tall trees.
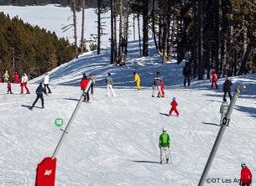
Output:
<path fill-rule="evenodd" d="M 109 51 L 104 50 L 99 56 L 85 54 L 52 70 L 53 94 L 45 96 L 44 110 L 28 109 L 41 77 L 30 81 L 31 95 L 19 95 L 19 85 L 13 85 L 14 95 L 7 95 L 7 85 L 0 84 L 2 185 L 34 185 L 37 163 L 52 155 L 60 139 L 55 118 L 60 116 L 67 123 L 81 94 L 83 72 L 98 75 L 95 95 L 90 104 L 81 105 L 60 148 L 55 185 L 197 185 L 220 129 L 222 91 L 209 90 L 208 80 L 182 87 L 182 65 L 161 65 L 154 55 L 138 58 L 137 44 L 131 45 L 129 49 L 134 52 L 123 67 L 108 65 Z M 141 91 L 133 85 L 133 70 L 142 77 Z M 152 79 L 158 70 L 166 85 L 166 97 L 160 99 L 151 97 Z M 117 97 L 106 96 L 104 78 L 108 72 L 112 73 Z M 233 180 L 239 178 L 241 162 L 248 164 L 253 175 L 256 173 L 256 77 L 231 80 L 233 88 L 245 84 L 248 90 L 237 101 L 208 178 L 232 179 L 232 183 L 206 185 L 238 185 Z M 223 80 L 218 83 L 222 85 Z M 179 104 L 179 117 L 166 116 L 173 96 Z M 162 127 L 170 133 L 173 164 L 159 164 Z"/>

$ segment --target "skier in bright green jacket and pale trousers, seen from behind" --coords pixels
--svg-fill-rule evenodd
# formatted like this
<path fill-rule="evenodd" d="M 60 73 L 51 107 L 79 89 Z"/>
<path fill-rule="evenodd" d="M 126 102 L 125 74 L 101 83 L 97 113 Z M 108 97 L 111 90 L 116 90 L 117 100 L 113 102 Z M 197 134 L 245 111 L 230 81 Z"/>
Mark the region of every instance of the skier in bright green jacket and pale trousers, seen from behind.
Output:
<path fill-rule="evenodd" d="M 169 152 L 170 151 L 170 136 L 167 133 L 166 128 L 163 128 L 163 132 L 159 137 L 159 148 L 160 148 L 160 163 L 169 162 Z"/>

